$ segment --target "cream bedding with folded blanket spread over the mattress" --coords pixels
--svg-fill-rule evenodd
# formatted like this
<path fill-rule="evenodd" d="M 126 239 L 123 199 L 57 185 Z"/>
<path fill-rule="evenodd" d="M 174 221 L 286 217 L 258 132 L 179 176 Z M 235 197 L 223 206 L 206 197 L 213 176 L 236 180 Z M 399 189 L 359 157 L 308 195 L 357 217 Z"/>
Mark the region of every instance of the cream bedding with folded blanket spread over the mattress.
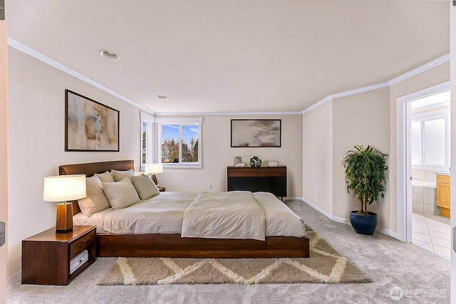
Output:
<path fill-rule="evenodd" d="M 231 196 L 227 200 L 228 196 Z M 73 216 L 74 225 L 97 226 L 101 234 L 182 234 L 187 237 L 206 237 L 218 239 L 260 239 L 264 236 L 306 235 L 302 219 L 288 206 L 266 192 L 203 192 L 197 217 L 190 217 L 184 223 L 187 208 L 198 194 L 185 192 L 160 192 L 150 199 L 140 201 L 124 209 L 105 209 L 90 217 L 82 212 Z M 200 194 L 201 195 L 201 194 Z M 212 198 L 210 196 L 213 196 Z M 252 196 L 249 207 L 242 201 Z M 220 201 L 222 199 L 222 201 Z M 218 200 L 218 201 L 217 201 Z M 214 211 L 217 201 L 218 210 Z M 202 204 L 201 204 L 202 203 Z M 209 214 L 202 211 L 207 209 Z M 235 206 L 234 211 L 226 211 Z M 253 209 L 253 217 L 245 216 L 247 209 Z M 210 212 L 218 214 L 210 214 Z M 204 215 L 205 214 L 205 215 Z M 259 216 L 261 214 L 261 216 Z M 187 228 L 182 229 L 182 225 Z M 256 227 L 256 228 L 254 228 Z M 199 231 L 197 231 L 199 230 Z M 261 232 L 262 231 L 262 232 Z"/>

